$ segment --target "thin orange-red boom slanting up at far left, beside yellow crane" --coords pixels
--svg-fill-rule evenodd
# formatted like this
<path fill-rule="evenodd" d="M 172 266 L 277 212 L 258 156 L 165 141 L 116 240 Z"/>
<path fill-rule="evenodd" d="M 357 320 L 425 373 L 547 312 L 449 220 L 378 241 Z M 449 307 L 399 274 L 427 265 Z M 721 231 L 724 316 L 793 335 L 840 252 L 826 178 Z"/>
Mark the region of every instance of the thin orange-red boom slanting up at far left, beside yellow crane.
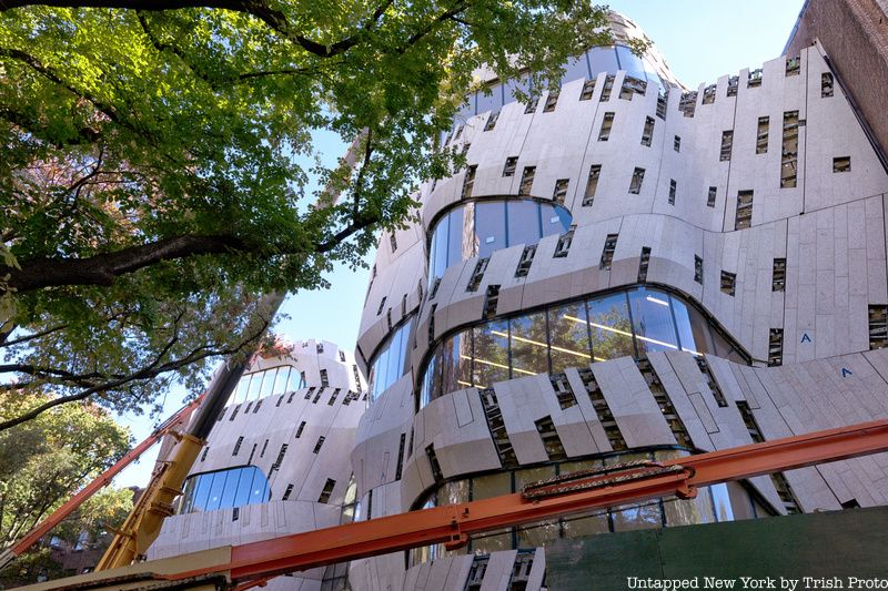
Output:
<path fill-rule="evenodd" d="M 61 507 L 56 509 L 49 517 L 47 517 L 43 521 L 34 526 L 31 531 L 28 532 L 24 538 L 19 540 L 14 546 L 8 548 L 2 553 L 0 553 L 0 569 L 6 567 L 9 562 L 14 560 L 17 557 L 23 554 L 29 548 L 31 548 L 37 541 L 46 536 L 52 528 L 61 523 L 68 516 L 70 516 L 78 507 L 83 505 L 83 502 L 95 495 L 100 489 L 108 486 L 113 478 L 119 475 L 124 468 L 127 468 L 130 463 L 139 459 L 142 454 L 144 454 L 149 448 L 151 448 L 154 444 L 157 444 L 163 436 L 170 432 L 170 430 L 179 422 L 179 421 L 188 421 L 191 417 L 191 414 L 194 411 L 195 408 L 201 404 L 203 400 L 204 395 L 200 395 L 195 398 L 191 404 L 182 407 L 179 411 L 163 421 L 154 431 L 149 435 L 144 441 L 132 448 L 130 451 L 127 452 L 125 456 L 120 458 L 114 465 L 99 475 L 92 482 L 80 489 L 80 491 L 68 499 Z"/>

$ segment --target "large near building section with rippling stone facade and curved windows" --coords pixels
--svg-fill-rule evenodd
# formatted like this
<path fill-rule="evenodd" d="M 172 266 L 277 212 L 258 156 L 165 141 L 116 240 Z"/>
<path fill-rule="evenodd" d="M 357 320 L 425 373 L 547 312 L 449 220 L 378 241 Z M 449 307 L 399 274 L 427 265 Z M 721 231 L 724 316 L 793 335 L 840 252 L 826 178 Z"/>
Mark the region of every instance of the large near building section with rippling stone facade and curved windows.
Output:
<path fill-rule="evenodd" d="M 803 13 L 804 16 L 804 13 Z M 689 91 L 643 33 L 491 79 L 382 236 L 359 342 L 362 518 L 888 417 L 888 174 L 819 42 Z M 562 538 L 888 503 L 888 456 L 352 562 L 356 590 L 545 587 Z"/>

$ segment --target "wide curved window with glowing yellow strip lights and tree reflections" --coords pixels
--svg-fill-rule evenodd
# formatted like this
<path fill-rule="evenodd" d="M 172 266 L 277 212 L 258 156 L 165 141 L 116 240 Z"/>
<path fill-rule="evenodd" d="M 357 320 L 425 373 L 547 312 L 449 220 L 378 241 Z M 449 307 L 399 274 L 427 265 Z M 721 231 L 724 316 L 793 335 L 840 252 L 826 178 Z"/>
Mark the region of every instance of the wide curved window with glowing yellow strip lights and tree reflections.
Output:
<path fill-rule="evenodd" d="M 471 386 L 487 388 L 660 350 L 747 363 L 696 307 L 663 289 L 636 287 L 491 320 L 445 338 L 426 364 L 420 406 Z"/>

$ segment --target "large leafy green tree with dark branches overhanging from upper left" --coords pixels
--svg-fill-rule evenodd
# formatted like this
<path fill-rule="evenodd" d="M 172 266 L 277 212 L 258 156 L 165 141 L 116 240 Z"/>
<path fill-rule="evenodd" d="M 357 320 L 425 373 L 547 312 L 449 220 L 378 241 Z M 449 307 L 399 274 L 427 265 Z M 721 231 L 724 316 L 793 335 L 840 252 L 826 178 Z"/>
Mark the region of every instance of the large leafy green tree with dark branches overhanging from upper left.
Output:
<path fill-rule="evenodd" d="M 0 430 L 195 388 L 255 340 L 259 294 L 360 265 L 462 164 L 434 139 L 474 70 L 545 88 L 605 24 L 569 0 L 0 1 L 0 389 L 51 393 Z M 306 164 L 317 129 L 351 161 Z"/>

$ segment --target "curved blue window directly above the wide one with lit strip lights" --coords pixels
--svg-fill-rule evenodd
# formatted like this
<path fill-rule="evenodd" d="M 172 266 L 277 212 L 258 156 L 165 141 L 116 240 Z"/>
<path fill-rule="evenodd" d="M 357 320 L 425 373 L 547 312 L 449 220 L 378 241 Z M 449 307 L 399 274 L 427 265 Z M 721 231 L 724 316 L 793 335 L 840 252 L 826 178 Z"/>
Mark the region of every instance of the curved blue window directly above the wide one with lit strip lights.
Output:
<path fill-rule="evenodd" d="M 571 213 L 561 205 L 535 200 L 484 200 L 463 203 L 432 226 L 428 283 L 451 265 L 487 257 L 516 244 L 536 244 L 543 236 L 564 234 Z"/>

